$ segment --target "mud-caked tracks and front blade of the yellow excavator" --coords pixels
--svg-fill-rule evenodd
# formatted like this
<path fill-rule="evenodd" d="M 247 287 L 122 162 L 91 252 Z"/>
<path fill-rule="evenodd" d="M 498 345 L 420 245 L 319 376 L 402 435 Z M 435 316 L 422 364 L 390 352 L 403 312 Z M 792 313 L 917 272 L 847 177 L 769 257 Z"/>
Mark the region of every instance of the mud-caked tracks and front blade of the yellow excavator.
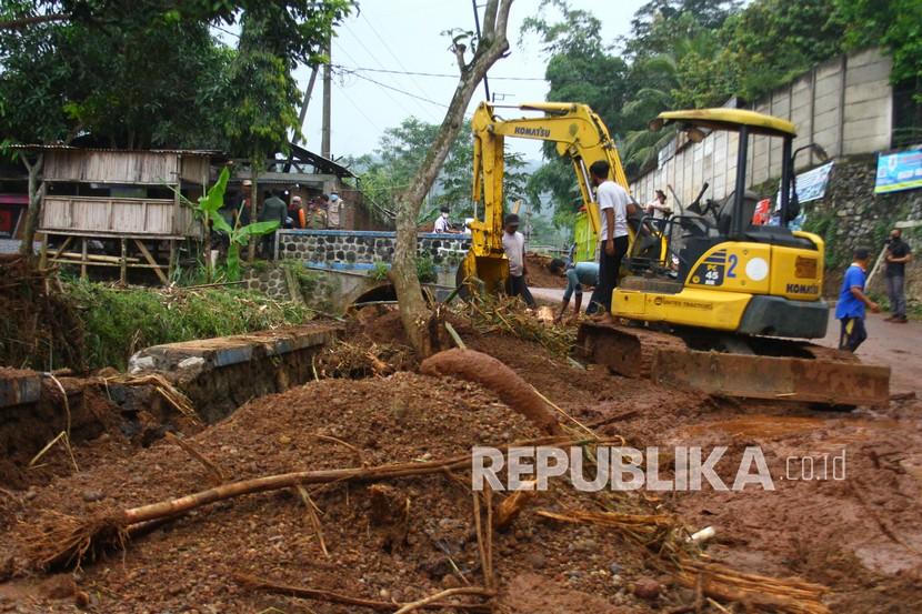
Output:
<path fill-rule="evenodd" d="M 583 358 L 621 375 L 719 396 L 823 405 L 884 406 L 890 401 L 890 368 L 863 364 L 848 352 L 754 338 L 748 344 L 752 353 L 738 353 L 702 350 L 700 336 L 689 341 L 681 333 L 590 322 L 580 326 L 577 346 Z M 744 342 L 738 338 L 738 343 Z"/>

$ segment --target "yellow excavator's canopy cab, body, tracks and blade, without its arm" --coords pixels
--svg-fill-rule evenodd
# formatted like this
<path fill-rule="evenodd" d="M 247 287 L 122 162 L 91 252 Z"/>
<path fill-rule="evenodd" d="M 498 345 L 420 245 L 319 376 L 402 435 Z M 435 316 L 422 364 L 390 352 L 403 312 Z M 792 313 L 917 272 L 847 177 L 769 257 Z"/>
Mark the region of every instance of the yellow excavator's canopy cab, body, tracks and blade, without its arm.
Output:
<path fill-rule="evenodd" d="M 788 227 L 800 211 L 794 125 L 748 110 L 699 109 L 661 113 L 651 128 L 670 123 L 695 142 L 716 130 L 739 134 L 734 189 L 723 202 L 702 204 L 705 184 L 662 225 L 662 260 L 645 269 L 629 264 L 612 294 L 620 323 L 583 323 L 583 355 L 622 375 L 728 396 L 886 403 L 888 368 L 802 341 L 825 335 L 829 306 L 823 240 Z M 782 141 L 780 225 L 752 224 L 751 135 Z M 635 241 L 629 260 L 641 253 Z"/>

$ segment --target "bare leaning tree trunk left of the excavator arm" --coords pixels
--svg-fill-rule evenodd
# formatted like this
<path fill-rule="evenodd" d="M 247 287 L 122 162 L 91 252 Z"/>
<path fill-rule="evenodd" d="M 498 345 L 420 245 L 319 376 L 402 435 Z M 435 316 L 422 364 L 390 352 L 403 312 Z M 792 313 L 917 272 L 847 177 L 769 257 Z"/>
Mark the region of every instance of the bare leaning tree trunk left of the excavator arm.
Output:
<path fill-rule="evenodd" d="M 469 63 L 464 62 L 464 46 L 455 44 L 453 50 L 461 74 L 451 104 L 422 165 L 407 191 L 398 197 L 397 244 L 390 279 L 397 290 L 400 320 L 407 331 L 407 338 L 422 358 L 428 356 L 432 350 L 428 331 L 432 314 L 425 305 L 417 276 L 417 219 L 425 194 L 435 182 L 451 144 L 458 138 L 464 121 L 464 111 L 474 90 L 490 67 L 509 49 L 505 31 L 511 6 L 512 0 L 489 0 L 484 10 L 483 32 L 477 52 Z"/>

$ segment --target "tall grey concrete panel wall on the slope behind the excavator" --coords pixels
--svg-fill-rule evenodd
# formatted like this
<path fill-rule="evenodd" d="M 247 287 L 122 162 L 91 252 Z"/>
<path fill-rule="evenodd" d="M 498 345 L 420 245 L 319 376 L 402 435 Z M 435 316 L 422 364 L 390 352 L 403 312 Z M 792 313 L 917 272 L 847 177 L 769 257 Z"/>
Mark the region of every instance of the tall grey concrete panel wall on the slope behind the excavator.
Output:
<path fill-rule="evenodd" d="M 890 58 L 880 49 L 842 56 L 766 94 L 751 109 L 792 121 L 798 128 L 794 149 L 814 142 L 830 157 L 886 150 L 893 113 L 890 70 Z M 688 204 L 704 182 L 710 183 L 705 198 L 728 195 L 735 181 L 739 137 L 714 132 L 700 143 L 678 139 L 674 155 L 661 155 L 657 169 L 631 184 L 634 198 L 649 202 L 655 189 L 670 184 Z M 751 138 L 748 187 L 781 175 L 781 139 Z M 806 152 L 798 158 L 799 169 L 816 163 Z"/>

